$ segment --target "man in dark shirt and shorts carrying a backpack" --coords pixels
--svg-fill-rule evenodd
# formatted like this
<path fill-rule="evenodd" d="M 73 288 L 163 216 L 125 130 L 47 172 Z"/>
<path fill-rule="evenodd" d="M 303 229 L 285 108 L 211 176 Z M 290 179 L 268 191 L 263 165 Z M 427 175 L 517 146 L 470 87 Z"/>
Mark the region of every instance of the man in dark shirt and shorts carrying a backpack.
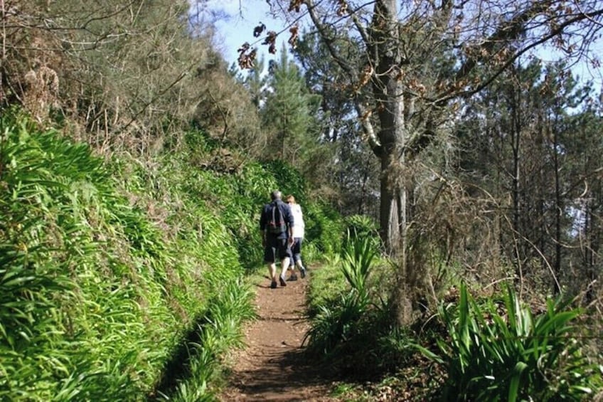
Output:
<path fill-rule="evenodd" d="M 292 258 L 293 214 L 289 205 L 281 199 L 280 191 L 270 194 L 272 202 L 265 204 L 260 215 L 260 233 L 264 245 L 264 261 L 268 264 L 270 287 L 277 287 L 277 259 L 281 261 L 282 270 L 279 276 L 281 286 L 287 286 L 285 275 Z"/>

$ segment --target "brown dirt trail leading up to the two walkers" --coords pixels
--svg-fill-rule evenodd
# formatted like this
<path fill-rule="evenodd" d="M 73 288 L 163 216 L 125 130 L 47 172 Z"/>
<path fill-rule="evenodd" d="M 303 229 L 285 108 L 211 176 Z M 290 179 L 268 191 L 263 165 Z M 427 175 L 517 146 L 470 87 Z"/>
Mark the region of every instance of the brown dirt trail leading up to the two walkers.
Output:
<path fill-rule="evenodd" d="M 260 317 L 245 327 L 247 348 L 235 352 L 230 385 L 220 401 L 338 400 L 328 396 L 332 383 L 326 373 L 301 354 L 309 328 L 303 314 L 308 282 L 306 277 L 277 289 L 270 289 L 267 277 L 257 283 Z"/>

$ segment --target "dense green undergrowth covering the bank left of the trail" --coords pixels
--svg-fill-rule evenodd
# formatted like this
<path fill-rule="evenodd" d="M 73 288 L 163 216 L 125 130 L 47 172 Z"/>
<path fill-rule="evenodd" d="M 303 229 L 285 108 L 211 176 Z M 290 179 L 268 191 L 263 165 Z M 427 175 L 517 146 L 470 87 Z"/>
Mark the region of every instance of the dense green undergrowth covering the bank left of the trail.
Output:
<path fill-rule="evenodd" d="M 146 162 L 97 157 L 18 113 L 0 133 L 0 399 L 210 400 L 255 315 L 257 213 L 275 188 L 305 202 L 299 176 L 212 169 L 199 132 Z M 336 219 L 306 205 L 309 250 L 336 248 Z"/>

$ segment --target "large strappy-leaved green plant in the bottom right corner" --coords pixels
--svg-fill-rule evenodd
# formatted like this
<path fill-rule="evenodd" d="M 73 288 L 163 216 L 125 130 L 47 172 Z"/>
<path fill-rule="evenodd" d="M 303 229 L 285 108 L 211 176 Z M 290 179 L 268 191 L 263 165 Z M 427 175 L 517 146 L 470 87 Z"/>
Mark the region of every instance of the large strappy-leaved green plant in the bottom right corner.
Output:
<path fill-rule="evenodd" d="M 479 304 L 461 286 L 458 305 L 439 315 L 449 337 L 439 355 L 420 348 L 447 370 L 446 401 L 580 400 L 601 381 L 581 352 L 572 322 L 580 310 L 550 301 L 535 316 L 507 287 L 502 304 Z"/>

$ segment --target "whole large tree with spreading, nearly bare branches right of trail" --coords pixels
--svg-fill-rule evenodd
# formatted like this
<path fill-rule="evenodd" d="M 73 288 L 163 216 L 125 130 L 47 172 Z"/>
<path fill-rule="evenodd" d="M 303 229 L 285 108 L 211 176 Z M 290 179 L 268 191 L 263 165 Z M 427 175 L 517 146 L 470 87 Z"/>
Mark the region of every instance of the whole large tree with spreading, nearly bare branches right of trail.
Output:
<path fill-rule="evenodd" d="M 447 106 L 485 88 L 539 43 L 554 38 L 568 52 L 584 51 L 603 14 L 596 0 L 580 5 L 564 0 L 425 0 L 403 2 L 401 9 L 395 0 L 271 4 L 307 13 L 333 62 L 346 73 L 364 135 L 380 161 L 381 236 L 387 250 L 400 256 L 402 282 L 405 276 L 420 276 L 411 272 L 420 268 L 406 266 L 412 221 L 412 169 L 406 167 L 450 120 Z M 348 59 L 333 46 L 336 33 L 344 30 L 361 46 L 362 58 Z M 371 97 L 360 91 L 368 84 Z"/>

